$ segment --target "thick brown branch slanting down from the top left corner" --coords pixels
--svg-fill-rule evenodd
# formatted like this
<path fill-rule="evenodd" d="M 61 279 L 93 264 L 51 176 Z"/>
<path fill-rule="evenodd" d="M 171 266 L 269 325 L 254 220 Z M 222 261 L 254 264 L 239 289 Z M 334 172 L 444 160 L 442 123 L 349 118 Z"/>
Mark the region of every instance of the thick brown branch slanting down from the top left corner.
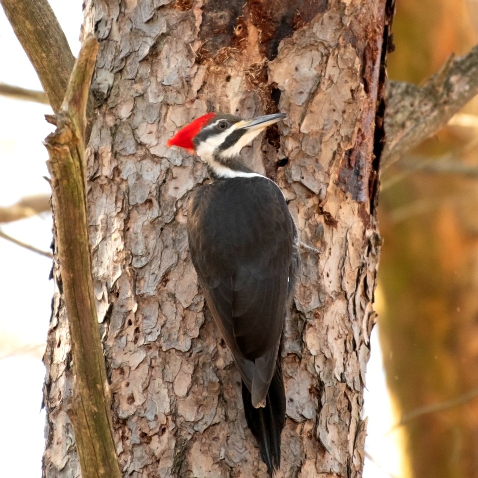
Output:
<path fill-rule="evenodd" d="M 47 0 L 0 0 L 16 37 L 57 113 L 75 57 Z"/>

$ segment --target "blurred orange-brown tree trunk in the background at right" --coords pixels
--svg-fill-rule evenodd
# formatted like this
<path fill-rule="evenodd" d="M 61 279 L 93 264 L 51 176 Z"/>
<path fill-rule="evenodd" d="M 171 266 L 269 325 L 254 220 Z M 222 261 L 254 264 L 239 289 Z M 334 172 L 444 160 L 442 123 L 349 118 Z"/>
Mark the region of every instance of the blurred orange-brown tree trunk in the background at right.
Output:
<path fill-rule="evenodd" d="M 447 76 L 442 65 L 452 52 L 464 55 L 477 44 L 472 2 L 400 4 L 390 78 L 423 87 L 435 71 Z M 475 78 L 476 72 L 464 87 Z M 456 97 L 448 100 L 452 108 Z M 478 98 L 464 113 L 476 121 Z M 386 247 L 379 332 L 396 421 L 402 423 L 403 473 L 410 478 L 477 476 L 477 159 L 476 122 L 448 125 L 382 175 L 379 218 Z"/>

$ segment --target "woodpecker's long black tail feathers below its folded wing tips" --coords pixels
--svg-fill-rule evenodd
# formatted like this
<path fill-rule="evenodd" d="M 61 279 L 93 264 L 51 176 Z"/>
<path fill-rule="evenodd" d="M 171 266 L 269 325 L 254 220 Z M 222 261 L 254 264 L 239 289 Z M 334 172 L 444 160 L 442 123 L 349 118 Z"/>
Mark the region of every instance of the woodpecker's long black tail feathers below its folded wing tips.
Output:
<path fill-rule="evenodd" d="M 262 460 L 267 466 L 269 475 L 272 476 L 280 467 L 280 434 L 285 422 L 285 390 L 280 354 L 267 392 L 265 407 L 252 406 L 252 397 L 244 382 L 242 382 L 242 402 L 247 426 L 259 442 Z"/>

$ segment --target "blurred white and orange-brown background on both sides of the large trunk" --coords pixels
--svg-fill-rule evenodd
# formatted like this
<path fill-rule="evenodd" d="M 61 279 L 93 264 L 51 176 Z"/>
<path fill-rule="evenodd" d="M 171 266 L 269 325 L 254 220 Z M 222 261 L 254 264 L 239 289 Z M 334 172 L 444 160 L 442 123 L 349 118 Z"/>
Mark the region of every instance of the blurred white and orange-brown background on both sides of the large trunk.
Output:
<path fill-rule="evenodd" d="M 50 3 L 76 56 L 82 1 Z M 451 53 L 478 43 L 477 28 L 477 0 L 397 0 L 389 78 L 423 83 Z M 41 90 L 1 10 L 0 64 L 0 84 Z M 0 112 L 2 475 L 17 476 L 21 459 L 24 476 L 34 477 L 41 474 L 41 357 L 53 290 L 42 145 L 52 131 L 44 115 L 52 112 L 5 96 Z M 384 246 L 365 395 L 365 478 L 478 477 L 477 133 L 475 99 L 381 176 Z"/>

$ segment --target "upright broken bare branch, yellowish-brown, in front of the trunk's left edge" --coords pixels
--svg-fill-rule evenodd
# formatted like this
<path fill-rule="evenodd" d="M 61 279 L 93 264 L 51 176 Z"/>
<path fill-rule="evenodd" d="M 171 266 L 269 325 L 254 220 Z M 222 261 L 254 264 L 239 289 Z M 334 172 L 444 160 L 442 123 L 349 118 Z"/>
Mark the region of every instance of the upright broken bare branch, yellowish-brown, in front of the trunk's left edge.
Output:
<path fill-rule="evenodd" d="M 100 341 L 86 220 L 85 129 L 99 43 L 88 36 L 75 63 L 58 127 L 45 140 L 58 261 L 71 334 L 75 382 L 68 411 L 83 478 L 120 478 L 111 396 Z"/>

